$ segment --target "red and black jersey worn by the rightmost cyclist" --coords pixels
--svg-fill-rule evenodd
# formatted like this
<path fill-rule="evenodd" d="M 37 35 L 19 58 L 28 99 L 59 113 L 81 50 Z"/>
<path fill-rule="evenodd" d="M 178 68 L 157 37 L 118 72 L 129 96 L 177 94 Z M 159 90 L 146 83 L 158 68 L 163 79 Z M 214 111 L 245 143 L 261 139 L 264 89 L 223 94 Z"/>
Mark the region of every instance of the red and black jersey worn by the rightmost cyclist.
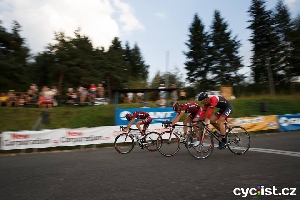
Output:
<path fill-rule="evenodd" d="M 232 105 L 229 103 L 228 100 L 226 100 L 224 97 L 222 96 L 211 96 L 209 97 L 209 103 L 208 104 L 204 104 L 203 107 L 203 111 L 200 114 L 200 119 L 203 119 L 206 111 L 206 117 L 210 118 L 212 111 L 214 108 L 220 108 L 220 110 L 218 112 L 216 112 L 216 116 L 219 118 L 221 115 L 223 115 L 225 118 L 227 118 L 231 112 L 233 111 L 233 107 Z"/>

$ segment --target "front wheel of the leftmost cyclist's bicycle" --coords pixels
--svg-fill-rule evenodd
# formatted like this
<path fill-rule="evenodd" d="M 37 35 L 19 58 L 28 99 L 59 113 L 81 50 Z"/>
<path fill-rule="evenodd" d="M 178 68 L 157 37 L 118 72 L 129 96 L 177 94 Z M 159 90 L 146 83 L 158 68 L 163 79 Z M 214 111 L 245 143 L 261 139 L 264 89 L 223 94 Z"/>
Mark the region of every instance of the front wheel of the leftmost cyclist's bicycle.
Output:
<path fill-rule="evenodd" d="M 134 138 L 128 133 L 121 133 L 116 137 L 114 146 L 117 152 L 121 154 L 127 154 L 134 147 Z"/>

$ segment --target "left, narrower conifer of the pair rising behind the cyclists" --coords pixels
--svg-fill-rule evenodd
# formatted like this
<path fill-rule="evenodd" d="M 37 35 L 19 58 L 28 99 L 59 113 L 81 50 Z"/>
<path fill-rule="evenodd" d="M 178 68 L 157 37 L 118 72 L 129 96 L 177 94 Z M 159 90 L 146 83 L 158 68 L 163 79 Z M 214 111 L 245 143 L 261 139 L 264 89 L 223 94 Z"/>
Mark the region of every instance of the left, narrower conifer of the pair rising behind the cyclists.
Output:
<path fill-rule="evenodd" d="M 187 80 L 190 83 L 201 82 L 201 84 L 205 84 L 210 60 L 208 57 L 208 36 L 197 14 L 194 15 L 189 28 L 189 40 L 185 44 L 189 49 L 187 52 L 183 52 L 187 58 L 184 63 L 187 70 Z"/>

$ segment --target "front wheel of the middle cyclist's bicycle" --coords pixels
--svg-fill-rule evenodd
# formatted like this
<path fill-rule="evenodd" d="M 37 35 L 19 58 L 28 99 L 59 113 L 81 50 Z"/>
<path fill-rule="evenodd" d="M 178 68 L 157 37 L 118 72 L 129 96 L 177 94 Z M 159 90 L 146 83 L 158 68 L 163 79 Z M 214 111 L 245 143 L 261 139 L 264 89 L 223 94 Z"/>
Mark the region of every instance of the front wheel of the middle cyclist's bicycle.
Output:
<path fill-rule="evenodd" d="M 180 139 L 173 132 L 166 131 L 160 135 L 157 140 L 157 149 L 161 155 L 166 157 L 174 156 L 180 149 Z"/>

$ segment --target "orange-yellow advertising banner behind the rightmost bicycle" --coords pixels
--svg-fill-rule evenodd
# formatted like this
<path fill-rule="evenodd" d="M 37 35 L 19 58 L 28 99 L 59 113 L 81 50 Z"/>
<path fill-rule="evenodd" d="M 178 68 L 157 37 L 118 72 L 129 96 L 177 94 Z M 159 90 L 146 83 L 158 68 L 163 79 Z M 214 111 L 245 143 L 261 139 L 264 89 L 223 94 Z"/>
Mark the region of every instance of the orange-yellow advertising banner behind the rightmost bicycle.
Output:
<path fill-rule="evenodd" d="M 249 132 L 279 129 L 276 115 L 232 118 L 229 122 L 231 125 L 242 126 Z"/>

